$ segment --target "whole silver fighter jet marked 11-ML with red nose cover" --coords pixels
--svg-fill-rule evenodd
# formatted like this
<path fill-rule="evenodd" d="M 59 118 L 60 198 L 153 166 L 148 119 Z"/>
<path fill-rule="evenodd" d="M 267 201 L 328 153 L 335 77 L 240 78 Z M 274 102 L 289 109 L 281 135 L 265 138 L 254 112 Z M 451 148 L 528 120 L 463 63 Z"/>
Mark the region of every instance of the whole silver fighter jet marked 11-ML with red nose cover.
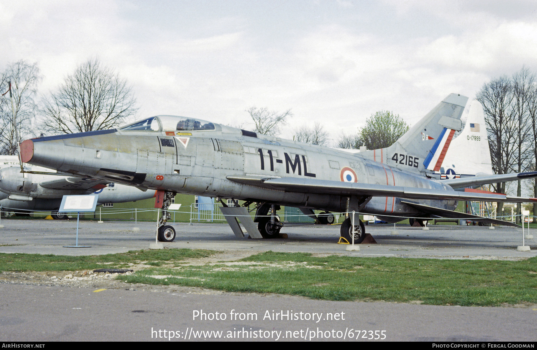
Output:
<path fill-rule="evenodd" d="M 195 118 L 160 115 L 118 129 L 39 137 L 21 143 L 24 162 L 65 174 L 94 177 L 158 191 L 163 208 L 158 236 L 175 239 L 166 225 L 169 199 L 176 192 L 244 200 L 243 207 L 223 207 L 236 235 L 236 217 L 248 215 L 245 206 L 256 203 L 241 222 L 251 237 L 272 238 L 282 227 L 280 205 L 299 207 L 320 221 L 330 212 L 359 212 L 397 222 L 405 218 L 470 215 L 455 212 L 458 200 L 523 202 L 499 193 L 461 192 L 463 188 L 498 181 L 535 177 L 537 172 L 433 180 L 456 130 L 467 98 L 450 94 L 394 145 L 351 154 L 278 137 L 231 128 Z M 498 177 L 501 180 L 498 180 Z M 222 202 L 224 203 L 224 202 Z M 225 206 L 225 205 L 224 205 Z M 230 218 L 234 217 L 234 220 Z M 475 221 L 514 225 L 478 217 Z M 364 239 L 361 221 L 345 219 L 341 235 Z M 249 228 L 250 227 L 250 228 Z"/>

